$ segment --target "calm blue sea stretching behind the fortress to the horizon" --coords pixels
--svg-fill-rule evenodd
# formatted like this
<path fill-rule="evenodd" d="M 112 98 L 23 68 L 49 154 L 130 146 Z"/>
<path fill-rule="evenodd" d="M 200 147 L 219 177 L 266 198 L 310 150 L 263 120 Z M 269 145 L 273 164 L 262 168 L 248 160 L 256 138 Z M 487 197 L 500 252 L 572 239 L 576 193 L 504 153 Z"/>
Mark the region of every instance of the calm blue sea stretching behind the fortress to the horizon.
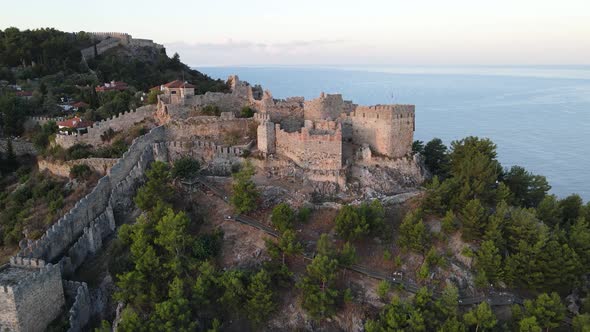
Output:
<path fill-rule="evenodd" d="M 560 197 L 590 200 L 590 67 L 204 67 L 275 98 L 342 93 L 359 104 L 416 105 L 415 138 L 489 137 L 504 166 L 547 177 Z"/>

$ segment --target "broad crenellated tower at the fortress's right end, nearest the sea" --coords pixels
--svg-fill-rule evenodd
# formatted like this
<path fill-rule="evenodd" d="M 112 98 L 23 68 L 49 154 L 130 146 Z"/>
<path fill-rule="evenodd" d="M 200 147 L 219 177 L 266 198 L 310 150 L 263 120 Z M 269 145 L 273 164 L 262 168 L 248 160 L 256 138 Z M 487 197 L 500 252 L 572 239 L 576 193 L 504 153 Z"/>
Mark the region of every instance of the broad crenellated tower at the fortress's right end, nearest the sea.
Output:
<path fill-rule="evenodd" d="M 412 151 L 414 105 L 357 106 L 348 116 L 352 142 L 369 144 L 373 152 L 401 158 Z"/>

